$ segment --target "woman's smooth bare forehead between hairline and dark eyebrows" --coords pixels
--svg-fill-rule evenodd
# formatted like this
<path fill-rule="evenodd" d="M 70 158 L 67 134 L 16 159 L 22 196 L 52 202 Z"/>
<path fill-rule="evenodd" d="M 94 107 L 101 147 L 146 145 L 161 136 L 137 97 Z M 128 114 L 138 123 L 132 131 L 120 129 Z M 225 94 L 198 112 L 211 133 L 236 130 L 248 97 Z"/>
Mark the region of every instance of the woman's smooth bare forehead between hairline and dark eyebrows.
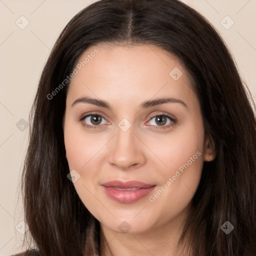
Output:
<path fill-rule="evenodd" d="M 181 62 L 154 45 L 92 45 L 75 66 L 68 88 L 72 100 L 88 94 L 122 104 L 163 95 L 196 97 Z"/>

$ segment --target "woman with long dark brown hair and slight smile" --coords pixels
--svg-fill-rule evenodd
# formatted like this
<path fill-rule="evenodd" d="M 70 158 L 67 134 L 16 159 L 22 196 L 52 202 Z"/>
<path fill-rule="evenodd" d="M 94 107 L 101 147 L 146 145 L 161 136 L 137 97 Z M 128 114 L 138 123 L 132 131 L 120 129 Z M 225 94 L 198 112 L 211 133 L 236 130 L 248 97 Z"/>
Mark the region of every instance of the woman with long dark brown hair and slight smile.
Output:
<path fill-rule="evenodd" d="M 23 169 L 34 250 L 255 255 L 255 117 L 231 54 L 177 0 L 101 0 L 57 39 Z"/>

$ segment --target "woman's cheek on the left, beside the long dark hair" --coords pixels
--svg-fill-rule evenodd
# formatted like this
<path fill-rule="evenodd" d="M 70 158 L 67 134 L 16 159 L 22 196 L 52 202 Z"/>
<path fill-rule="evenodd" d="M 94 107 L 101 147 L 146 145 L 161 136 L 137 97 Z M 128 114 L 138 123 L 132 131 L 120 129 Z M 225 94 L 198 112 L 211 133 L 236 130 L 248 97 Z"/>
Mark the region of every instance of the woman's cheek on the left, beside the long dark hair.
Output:
<path fill-rule="evenodd" d="M 98 195 L 92 180 L 96 182 L 96 171 L 99 169 L 97 159 L 100 157 L 100 148 L 104 145 L 104 141 L 80 129 L 75 129 L 75 125 L 70 123 L 66 123 L 64 127 L 64 143 L 69 170 L 74 169 L 79 174 L 79 178 L 73 185 L 84 205 L 100 219 L 100 214 L 97 214 L 97 211 L 94 212 L 100 204 L 95 200 Z"/>

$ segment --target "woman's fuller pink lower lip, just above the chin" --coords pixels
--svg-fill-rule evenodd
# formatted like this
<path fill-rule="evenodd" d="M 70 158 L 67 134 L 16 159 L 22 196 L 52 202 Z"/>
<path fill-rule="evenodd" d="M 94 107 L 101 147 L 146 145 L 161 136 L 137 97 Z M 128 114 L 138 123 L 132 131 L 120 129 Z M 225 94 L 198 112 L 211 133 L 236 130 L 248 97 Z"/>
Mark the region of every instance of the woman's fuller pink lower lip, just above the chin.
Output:
<path fill-rule="evenodd" d="M 112 199 L 122 202 L 122 203 L 130 203 L 135 202 L 141 199 L 142 197 L 149 194 L 154 188 L 154 186 L 151 187 L 144 187 L 139 188 L 137 190 L 117 190 L 114 188 L 103 186 L 105 193 Z"/>

